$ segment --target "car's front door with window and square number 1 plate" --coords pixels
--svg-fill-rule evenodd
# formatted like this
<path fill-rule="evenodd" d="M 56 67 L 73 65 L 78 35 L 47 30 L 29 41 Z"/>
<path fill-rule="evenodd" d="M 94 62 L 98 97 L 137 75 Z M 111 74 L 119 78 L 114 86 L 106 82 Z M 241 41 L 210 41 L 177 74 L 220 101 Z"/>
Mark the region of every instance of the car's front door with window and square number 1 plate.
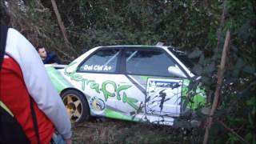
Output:
<path fill-rule="evenodd" d="M 178 116 L 186 74 L 177 62 L 158 48 L 134 47 L 125 49 L 123 55 L 127 77 L 145 95 L 146 114 Z M 172 68 L 178 73 L 171 73 Z"/>

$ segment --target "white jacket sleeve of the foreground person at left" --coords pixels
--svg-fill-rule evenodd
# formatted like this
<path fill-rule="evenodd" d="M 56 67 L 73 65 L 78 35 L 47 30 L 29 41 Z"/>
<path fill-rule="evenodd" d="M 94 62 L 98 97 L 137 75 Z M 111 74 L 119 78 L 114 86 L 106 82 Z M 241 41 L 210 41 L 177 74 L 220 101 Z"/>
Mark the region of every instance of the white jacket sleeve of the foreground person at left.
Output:
<path fill-rule="evenodd" d="M 42 60 L 34 46 L 17 30 L 9 29 L 6 54 L 18 62 L 30 96 L 42 110 L 63 138 L 71 138 L 70 118 L 62 99 L 46 73 Z"/>

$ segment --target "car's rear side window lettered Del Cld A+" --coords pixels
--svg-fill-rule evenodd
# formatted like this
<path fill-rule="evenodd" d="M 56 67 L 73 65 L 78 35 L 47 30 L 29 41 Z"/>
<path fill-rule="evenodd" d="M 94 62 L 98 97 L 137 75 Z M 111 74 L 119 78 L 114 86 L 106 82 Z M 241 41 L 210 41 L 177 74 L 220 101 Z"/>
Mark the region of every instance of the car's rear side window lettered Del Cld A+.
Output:
<path fill-rule="evenodd" d="M 82 72 L 114 73 L 118 63 L 119 50 L 98 50 L 78 68 Z"/>

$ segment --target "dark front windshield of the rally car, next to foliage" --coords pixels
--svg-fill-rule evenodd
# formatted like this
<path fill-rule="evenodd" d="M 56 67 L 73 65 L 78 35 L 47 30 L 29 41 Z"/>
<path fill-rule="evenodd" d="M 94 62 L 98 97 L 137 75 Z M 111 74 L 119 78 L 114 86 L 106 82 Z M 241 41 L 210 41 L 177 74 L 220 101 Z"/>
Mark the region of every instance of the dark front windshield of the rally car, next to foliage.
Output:
<path fill-rule="evenodd" d="M 168 50 L 170 50 L 187 68 L 190 70 L 193 69 L 194 64 L 190 61 L 190 58 L 188 58 L 185 52 L 174 49 L 173 47 L 169 47 Z"/>

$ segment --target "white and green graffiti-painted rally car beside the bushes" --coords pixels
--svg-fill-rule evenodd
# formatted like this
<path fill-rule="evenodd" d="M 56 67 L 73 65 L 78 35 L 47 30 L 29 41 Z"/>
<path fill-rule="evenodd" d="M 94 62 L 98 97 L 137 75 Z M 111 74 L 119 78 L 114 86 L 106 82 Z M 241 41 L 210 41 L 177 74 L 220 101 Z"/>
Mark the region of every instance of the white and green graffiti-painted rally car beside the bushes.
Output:
<path fill-rule="evenodd" d="M 191 79 L 186 54 L 170 46 L 98 46 L 62 69 L 46 70 L 70 120 L 90 115 L 173 125 Z M 205 101 L 199 90 L 186 109 Z"/>

